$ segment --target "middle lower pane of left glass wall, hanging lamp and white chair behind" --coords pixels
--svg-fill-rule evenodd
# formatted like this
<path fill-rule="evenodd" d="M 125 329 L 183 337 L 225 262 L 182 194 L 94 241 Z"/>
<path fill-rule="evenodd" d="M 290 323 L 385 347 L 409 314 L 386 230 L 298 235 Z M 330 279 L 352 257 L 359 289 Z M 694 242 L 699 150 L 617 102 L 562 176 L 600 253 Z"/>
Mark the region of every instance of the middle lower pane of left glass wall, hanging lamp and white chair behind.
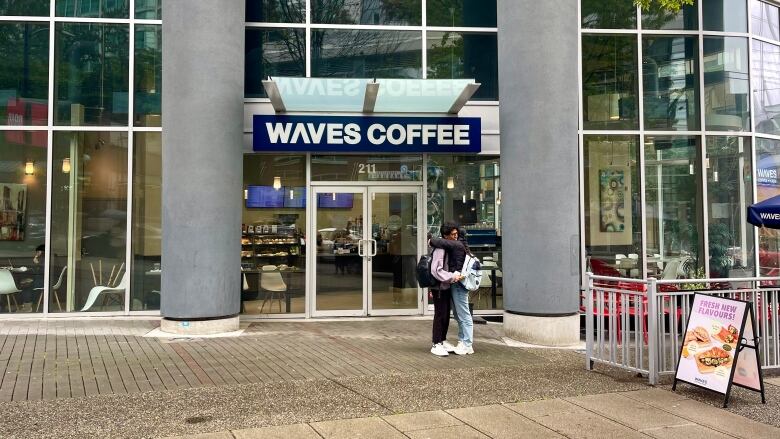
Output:
<path fill-rule="evenodd" d="M 127 133 L 54 133 L 49 310 L 123 311 Z"/>

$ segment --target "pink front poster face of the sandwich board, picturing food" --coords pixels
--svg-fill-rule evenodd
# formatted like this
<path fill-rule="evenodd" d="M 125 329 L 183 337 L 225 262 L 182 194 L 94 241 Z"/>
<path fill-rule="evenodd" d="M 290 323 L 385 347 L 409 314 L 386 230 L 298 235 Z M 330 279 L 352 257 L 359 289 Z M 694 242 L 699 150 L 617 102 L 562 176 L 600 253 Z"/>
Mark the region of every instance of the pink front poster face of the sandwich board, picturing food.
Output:
<path fill-rule="evenodd" d="M 746 302 L 696 294 L 675 378 L 726 394 Z"/>

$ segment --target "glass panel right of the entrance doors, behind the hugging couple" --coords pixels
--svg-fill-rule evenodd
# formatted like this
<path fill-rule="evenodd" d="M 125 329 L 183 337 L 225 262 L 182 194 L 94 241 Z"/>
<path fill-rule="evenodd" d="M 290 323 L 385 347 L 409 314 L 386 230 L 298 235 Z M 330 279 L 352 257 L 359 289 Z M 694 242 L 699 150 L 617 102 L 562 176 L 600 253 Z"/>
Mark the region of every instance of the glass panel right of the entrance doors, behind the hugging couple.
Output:
<path fill-rule="evenodd" d="M 486 268 L 483 286 L 472 293 L 475 309 L 503 308 L 501 186 L 499 160 L 487 155 L 428 156 L 427 230 L 454 221 L 466 229 L 469 248 Z M 432 302 L 431 302 L 432 303 Z"/>

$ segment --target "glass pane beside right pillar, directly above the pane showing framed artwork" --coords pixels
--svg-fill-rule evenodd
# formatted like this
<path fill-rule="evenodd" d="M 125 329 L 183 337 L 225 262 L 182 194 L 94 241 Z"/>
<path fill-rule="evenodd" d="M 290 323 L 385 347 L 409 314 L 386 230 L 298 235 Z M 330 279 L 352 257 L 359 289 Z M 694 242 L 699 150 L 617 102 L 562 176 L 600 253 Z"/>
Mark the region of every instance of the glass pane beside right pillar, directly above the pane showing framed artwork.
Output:
<path fill-rule="evenodd" d="M 633 35 L 582 36 L 585 129 L 639 128 Z"/>

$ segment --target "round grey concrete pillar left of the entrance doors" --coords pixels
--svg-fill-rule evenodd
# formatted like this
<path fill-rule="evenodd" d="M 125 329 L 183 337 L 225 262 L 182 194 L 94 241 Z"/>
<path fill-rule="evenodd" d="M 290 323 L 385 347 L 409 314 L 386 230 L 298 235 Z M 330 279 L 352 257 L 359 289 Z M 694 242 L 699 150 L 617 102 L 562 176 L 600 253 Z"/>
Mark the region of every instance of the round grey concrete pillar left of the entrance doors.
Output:
<path fill-rule="evenodd" d="M 163 330 L 238 329 L 244 7 L 163 2 Z"/>

